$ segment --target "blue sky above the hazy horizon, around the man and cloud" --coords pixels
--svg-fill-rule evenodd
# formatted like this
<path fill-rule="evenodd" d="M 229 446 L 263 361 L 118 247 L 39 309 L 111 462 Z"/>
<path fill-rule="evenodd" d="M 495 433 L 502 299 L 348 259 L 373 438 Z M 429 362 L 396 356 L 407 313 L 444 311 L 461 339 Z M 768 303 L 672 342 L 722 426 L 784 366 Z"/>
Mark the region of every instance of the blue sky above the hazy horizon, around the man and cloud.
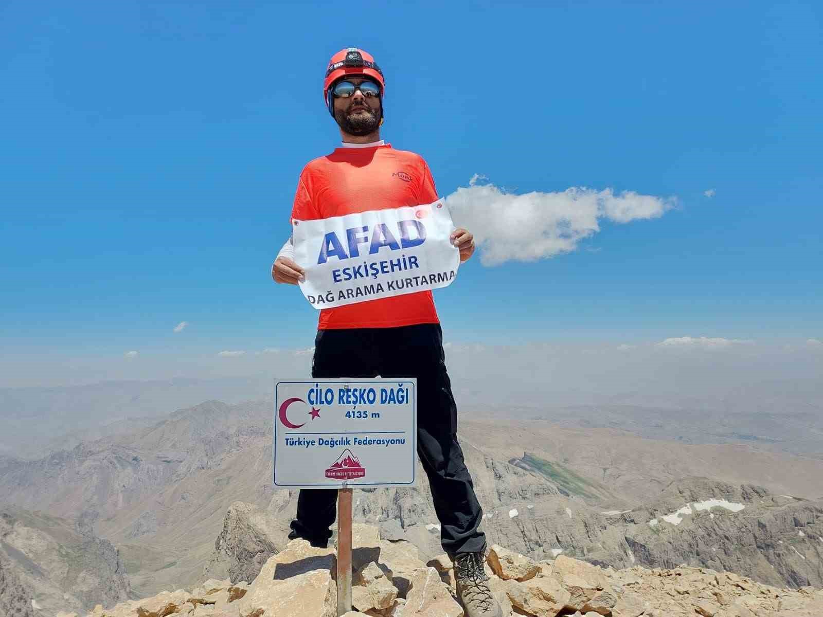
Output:
<path fill-rule="evenodd" d="M 268 271 L 352 45 L 441 195 L 485 174 L 677 199 L 572 253 L 473 259 L 435 292 L 449 340 L 823 338 L 821 4 L 546 4 L 3 2 L 2 346 L 310 346 L 314 309 Z"/>

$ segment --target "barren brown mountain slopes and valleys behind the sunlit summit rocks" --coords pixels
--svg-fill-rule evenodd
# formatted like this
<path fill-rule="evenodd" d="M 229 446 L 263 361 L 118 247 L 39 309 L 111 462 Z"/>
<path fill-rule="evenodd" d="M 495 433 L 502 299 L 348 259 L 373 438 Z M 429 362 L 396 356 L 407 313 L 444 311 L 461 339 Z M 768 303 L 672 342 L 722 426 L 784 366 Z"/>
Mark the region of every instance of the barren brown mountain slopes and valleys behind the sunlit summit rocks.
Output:
<path fill-rule="evenodd" d="M 695 438 L 699 426 L 663 438 L 627 429 L 625 415 L 598 425 L 613 410 L 465 409 L 458 436 L 490 545 L 536 560 L 685 564 L 823 587 L 823 448 L 708 443 Z M 207 401 L 103 433 L 40 458 L 0 457 L 0 570 L 28 590 L 33 615 L 205 578 L 249 581 L 286 547 L 297 491 L 272 487 L 271 401 Z M 418 471 L 412 489 L 356 491 L 355 521 L 411 542 L 425 561 L 442 549 Z"/>

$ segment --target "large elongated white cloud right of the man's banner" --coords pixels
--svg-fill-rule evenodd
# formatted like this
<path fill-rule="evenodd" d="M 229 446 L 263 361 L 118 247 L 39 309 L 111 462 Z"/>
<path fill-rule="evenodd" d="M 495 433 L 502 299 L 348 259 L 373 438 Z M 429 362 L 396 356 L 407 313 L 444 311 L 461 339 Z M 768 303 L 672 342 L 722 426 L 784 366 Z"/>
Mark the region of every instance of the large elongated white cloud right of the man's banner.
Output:
<path fill-rule="evenodd" d="M 496 266 L 508 261 L 533 262 L 570 253 L 580 240 L 600 230 L 601 220 L 628 223 L 653 219 L 675 206 L 673 197 L 639 195 L 611 188 L 571 187 L 559 193 L 509 193 L 490 183 L 478 183 L 446 197 L 456 225 L 472 230 L 481 248 L 481 262 Z"/>

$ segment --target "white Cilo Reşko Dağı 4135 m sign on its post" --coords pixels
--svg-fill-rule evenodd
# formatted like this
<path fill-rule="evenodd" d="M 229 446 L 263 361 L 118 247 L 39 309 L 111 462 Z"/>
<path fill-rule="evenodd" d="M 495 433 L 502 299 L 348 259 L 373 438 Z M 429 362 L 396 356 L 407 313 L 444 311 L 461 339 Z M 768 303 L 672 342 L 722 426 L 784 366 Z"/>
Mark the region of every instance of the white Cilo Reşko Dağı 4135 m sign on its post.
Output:
<path fill-rule="evenodd" d="M 338 489 L 337 615 L 351 610 L 351 490 L 415 484 L 416 378 L 274 383 L 274 485 Z"/>

